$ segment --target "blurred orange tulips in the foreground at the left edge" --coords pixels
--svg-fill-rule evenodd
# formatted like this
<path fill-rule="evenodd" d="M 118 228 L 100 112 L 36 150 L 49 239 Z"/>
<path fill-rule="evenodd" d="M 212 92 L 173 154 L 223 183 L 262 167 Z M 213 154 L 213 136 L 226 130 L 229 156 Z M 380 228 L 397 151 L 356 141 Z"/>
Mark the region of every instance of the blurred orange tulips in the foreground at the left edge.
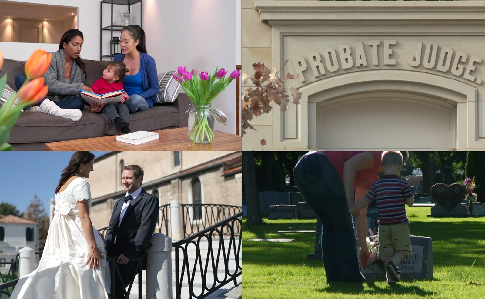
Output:
<path fill-rule="evenodd" d="M 46 98 L 49 87 L 44 84 L 44 78 L 41 76 L 47 71 L 51 58 L 52 54 L 48 54 L 47 51 L 35 50 L 25 64 L 27 80 L 0 106 L 0 150 L 12 150 L 7 141 L 10 138 L 10 130 L 23 108 Z M 0 51 L 0 69 L 2 66 L 3 53 Z M 3 95 L 6 82 L 7 75 L 0 79 L 0 96 Z"/>

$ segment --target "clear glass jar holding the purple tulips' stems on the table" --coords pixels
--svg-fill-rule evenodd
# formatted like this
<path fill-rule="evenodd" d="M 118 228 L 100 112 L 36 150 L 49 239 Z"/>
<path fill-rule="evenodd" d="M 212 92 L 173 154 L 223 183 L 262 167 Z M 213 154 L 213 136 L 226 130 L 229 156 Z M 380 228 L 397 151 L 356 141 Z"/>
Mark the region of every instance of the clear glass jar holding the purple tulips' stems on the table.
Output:
<path fill-rule="evenodd" d="M 190 104 L 189 138 L 195 143 L 210 143 L 214 139 L 212 104 Z"/>

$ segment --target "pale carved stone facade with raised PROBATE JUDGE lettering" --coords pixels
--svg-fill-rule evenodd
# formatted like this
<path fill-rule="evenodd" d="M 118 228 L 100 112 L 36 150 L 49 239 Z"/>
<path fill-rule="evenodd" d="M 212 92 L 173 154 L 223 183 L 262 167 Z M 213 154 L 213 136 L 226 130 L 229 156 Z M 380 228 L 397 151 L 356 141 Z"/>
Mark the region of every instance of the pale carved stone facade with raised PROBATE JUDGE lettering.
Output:
<path fill-rule="evenodd" d="M 242 72 L 288 60 L 302 93 L 243 150 L 485 149 L 484 4 L 243 1 Z"/>

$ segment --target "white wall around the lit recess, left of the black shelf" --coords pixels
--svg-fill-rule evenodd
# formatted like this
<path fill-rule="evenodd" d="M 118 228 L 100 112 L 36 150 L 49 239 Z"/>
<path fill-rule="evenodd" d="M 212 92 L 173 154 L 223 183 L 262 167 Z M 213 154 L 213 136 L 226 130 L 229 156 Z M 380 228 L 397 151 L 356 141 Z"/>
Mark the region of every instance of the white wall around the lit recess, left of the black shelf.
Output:
<path fill-rule="evenodd" d="M 84 59 L 99 60 L 99 0 L 16 0 L 16 2 L 77 7 L 78 16 L 80 16 L 78 17 L 78 29 L 81 30 L 84 35 L 84 45 L 82 47 L 81 57 Z M 59 41 L 56 41 L 56 44 L 58 46 Z M 42 46 L 44 45 L 47 44 L 43 44 Z M 30 47 L 31 46 L 26 47 L 25 43 L 0 43 L 0 50 L 5 53 L 5 58 L 16 60 L 27 60 L 34 50 L 43 48 L 37 46 L 32 48 L 33 50 L 30 50 Z M 28 48 L 28 50 L 25 48 Z M 55 50 L 58 49 L 59 48 L 56 48 Z M 10 56 L 7 56 L 7 53 L 9 53 Z"/>

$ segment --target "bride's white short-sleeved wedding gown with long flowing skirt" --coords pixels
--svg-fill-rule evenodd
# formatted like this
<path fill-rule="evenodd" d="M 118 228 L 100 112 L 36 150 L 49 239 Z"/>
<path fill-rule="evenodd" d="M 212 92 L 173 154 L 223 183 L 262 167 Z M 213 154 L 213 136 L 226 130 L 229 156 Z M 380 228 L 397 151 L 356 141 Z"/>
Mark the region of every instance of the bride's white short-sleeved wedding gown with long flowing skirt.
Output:
<path fill-rule="evenodd" d="M 77 206 L 83 199 L 89 199 L 91 208 L 91 190 L 83 178 L 74 179 L 63 192 L 56 194 L 55 212 L 39 266 L 19 279 L 10 299 L 108 298 L 106 250 L 94 227 L 96 245 L 104 258 L 99 258 L 97 269 L 86 265 L 89 246 Z"/>

